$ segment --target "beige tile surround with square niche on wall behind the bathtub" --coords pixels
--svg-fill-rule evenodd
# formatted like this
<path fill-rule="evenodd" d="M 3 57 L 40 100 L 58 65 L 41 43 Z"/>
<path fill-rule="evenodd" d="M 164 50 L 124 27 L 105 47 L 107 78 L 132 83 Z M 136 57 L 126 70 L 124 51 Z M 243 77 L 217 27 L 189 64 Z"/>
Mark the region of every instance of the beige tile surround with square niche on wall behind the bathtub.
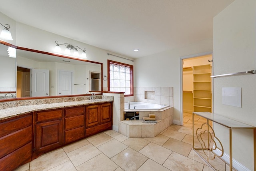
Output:
<path fill-rule="evenodd" d="M 146 98 L 147 91 L 154 92 L 154 99 Z M 124 102 L 140 101 L 173 106 L 173 87 L 134 87 L 134 96 L 124 97 Z"/>

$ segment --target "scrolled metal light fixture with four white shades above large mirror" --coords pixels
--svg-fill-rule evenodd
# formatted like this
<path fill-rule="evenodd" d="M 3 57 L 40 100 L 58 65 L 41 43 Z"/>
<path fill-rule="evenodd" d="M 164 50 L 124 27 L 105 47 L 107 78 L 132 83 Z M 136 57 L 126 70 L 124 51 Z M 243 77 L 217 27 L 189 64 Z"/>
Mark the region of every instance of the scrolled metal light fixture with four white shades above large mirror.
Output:
<path fill-rule="evenodd" d="M 82 50 L 82 49 L 79 48 L 78 46 L 73 46 L 73 45 L 71 45 L 71 44 L 67 44 L 67 43 L 59 44 L 57 40 L 55 41 L 55 43 L 56 43 L 56 46 L 55 46 L 56 52 L 61 52 L 60 45 L 66 46 L 66 48 L 65 48 L 65 53 L 68 54 L 68 55 L 71 54 L 70 50 L 74 50 L 73 55 L 74 55 L 74 56 L 79 56 L 78 50 L 79 50 L 79 49 Z M 86 53 L 85 53 L 86 48 L 84 48 L 84 50 L 82 50 L 82 51 L 83 51 L 83 52 L 82 52 L 82 54 L 81 54 L 81 57 L 82 57 L 82 58 L 87 58 L 87 57 L 86 57 Z"/>

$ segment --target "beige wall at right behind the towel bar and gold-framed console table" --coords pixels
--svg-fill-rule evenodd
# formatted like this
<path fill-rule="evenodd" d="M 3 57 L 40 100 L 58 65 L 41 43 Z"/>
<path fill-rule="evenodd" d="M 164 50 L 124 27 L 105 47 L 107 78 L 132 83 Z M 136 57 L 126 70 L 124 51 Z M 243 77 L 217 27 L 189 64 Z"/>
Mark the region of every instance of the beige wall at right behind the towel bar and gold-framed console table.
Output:
<path fill-rule="evenodd" d="M 236 0 L 214 17 L 214 75 L 256 69 L 255 18 L 255 0 Z M 214 113 L 256 126 L 256 74 L 214 78 L 213 84 Z M 222 87 L 242 87 L 242 107 L 222 104 Z M 217 135 L 228 142 L 224 132 L 219 129 Z M 234 159 L 254 170 L 252 131 L 235 130 L 233 141 Z M 228 147 L 224 143 L 224 149 Z"/>

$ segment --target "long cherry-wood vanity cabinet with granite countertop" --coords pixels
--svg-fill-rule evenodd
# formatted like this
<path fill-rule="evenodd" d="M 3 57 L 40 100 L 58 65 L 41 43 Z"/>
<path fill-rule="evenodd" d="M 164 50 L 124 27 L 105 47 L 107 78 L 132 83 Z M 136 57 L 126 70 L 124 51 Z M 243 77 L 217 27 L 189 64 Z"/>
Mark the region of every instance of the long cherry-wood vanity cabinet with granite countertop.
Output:
<path fill-rule="evenodd" d="M 31 105 L 27 109 L 12 107 L 14 111 L 23 109 L 24 113 L 19 111 L 18 115 L 0 120 L 0 170 L 14 170 L 48 151 L 112 129 L 112 101 L 97 99 L 41 107 Z M 48 108 L 41 109 L 42 106 Z"/>

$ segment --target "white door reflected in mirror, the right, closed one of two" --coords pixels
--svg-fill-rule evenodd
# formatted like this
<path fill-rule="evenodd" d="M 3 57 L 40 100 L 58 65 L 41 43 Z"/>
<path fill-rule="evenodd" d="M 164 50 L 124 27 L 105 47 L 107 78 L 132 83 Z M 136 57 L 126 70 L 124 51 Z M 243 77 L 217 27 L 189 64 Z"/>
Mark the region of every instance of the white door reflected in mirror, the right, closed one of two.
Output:
<path fill-rule="evenodd" d="M 72 72 L 58 72 L 58 95 L 72 95 Z"/>

